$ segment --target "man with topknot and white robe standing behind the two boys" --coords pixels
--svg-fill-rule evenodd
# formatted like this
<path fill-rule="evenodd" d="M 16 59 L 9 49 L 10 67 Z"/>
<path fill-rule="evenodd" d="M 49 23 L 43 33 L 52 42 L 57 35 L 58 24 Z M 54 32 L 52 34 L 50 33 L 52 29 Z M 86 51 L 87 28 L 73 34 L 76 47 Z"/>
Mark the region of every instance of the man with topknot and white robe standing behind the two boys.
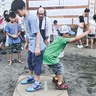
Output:
<path fill-rule="evenodd" d="M 46 10 L 40 6 L 37 10 L 37 22 L 39 25 L 40 33 L 46 45 L 50 42 L 50 36 L 52 35 L 51 20 L 46 16 Z"/>

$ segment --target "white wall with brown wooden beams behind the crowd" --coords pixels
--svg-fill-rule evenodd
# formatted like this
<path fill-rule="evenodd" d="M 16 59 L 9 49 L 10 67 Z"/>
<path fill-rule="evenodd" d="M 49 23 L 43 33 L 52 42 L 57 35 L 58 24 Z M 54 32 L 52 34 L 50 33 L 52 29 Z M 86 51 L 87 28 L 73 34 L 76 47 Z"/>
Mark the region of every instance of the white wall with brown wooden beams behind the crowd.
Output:
<path fill-rule="evenodd" d="M 89 18 L 85 22 L 88 23 L 89 19 L 93 18 L 94 12 L 96 13 L 96 0 L 26 0 L 28 10 L 36 14 L 39 6 L 43 6 L 47 11 L 47 16 L 51 19 L 52 23 L 56 19 L 59 24 L 77 24 L 78 16 L 81 15 L 85 8 L 90 9 Z"/>

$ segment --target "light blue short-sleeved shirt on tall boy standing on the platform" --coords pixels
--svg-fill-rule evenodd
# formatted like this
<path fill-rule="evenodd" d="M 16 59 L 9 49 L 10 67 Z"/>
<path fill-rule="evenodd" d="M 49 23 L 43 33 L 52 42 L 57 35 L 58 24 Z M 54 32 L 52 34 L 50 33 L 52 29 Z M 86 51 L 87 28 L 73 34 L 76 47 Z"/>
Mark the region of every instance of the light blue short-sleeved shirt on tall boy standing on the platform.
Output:
<path fill-rule="evenodd" d="M 23 19 L 24 30 L 29 40 L 29 50 L 35 52 L 36 48 L 36 33 L 39 31 L 39 26 L 32 13 L 29 13 L 26 18 Z M 45 49 L 45 43 L 42 36 L 40 36 L 40 51 Z"/>

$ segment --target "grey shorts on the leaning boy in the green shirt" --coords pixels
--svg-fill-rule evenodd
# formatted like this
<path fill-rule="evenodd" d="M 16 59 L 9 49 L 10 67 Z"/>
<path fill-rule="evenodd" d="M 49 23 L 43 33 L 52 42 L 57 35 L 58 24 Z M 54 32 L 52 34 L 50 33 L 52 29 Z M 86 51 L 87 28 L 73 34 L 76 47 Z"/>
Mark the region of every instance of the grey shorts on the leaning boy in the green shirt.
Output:
<path fill-rule="evenodd" d="M 48 67 L 54 72 L 56 75 L 62 75 L 64 73 L 64 66 L 61 63 L 48 65 Z"/>

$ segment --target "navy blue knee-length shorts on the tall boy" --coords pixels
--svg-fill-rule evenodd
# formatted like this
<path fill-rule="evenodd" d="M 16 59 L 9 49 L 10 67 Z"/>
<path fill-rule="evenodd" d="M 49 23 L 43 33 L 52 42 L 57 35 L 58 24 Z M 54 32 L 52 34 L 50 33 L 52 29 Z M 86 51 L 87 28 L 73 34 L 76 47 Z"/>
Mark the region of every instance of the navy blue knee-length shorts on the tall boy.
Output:
<path fill-rule="evenodd" d="M 34 71 L 35 75 L 40 75 L 43 63 L 43 51 L 39 56 L 35 56 L 35 53 L 28 51 L 28 67 L 29 70 Z"/>

